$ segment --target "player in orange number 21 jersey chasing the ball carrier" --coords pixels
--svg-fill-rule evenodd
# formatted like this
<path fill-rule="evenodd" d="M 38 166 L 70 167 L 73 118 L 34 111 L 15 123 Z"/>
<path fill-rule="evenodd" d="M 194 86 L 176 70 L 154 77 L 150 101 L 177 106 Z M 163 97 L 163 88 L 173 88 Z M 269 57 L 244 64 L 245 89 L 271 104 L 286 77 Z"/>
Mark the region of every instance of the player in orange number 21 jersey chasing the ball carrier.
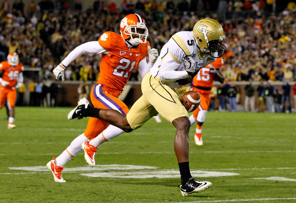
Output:
<path fill-rule="evenodd" d="M 87 42 L 76 47 L 53 70 L 53 73 L 56 79 L 61 77 L 64 80 L 65 68 L 77 57 L 84 53 L 101 53 L 100 76 L 90 95 L 92 104 L 97 108 L 115 109 L 126 115 L 129 110 L 118 99 L 118 96 L 128 82 L 131 72 L 136 70 L 137 67 L 141 78 L 149 72 L 158 57 L 158 52 L 156 49 L 150 49 L 150 43 L 147 41 L 148 29 L 142 16 L 138 14 L 125 16 L 120 23 L 120 32 L 121 35 L 114 32 L 105 32 L 98 41 Z M 149 56 L 148 64 L 146 56 Z M 81 99 L 78 105 L 83 103 L 84 99 Z M 61 177 L 63 166 L 82 150 L 81 146 L 83 148 L 92 147 L 88 145 L 88 140 L 97 137 L 108 126 L 109 124 L 105 121 L 93 117 L 89 118 L 84 133 L 76 137 L 70 146 L 56 159 L 53 158 L 47 163 L 47 167 L 52 171 L 55 182 L 66 182 Z M 123 133 L 117 127 L 110 130 L 117 135 Z M 102 138 L 107 141 L 113 137 L 102 136 Z M 96 151 L 95 148 L 93 150 Z M 94 159 L 90 160 L 90 162 L 93 165 L 95 164 Z"/>

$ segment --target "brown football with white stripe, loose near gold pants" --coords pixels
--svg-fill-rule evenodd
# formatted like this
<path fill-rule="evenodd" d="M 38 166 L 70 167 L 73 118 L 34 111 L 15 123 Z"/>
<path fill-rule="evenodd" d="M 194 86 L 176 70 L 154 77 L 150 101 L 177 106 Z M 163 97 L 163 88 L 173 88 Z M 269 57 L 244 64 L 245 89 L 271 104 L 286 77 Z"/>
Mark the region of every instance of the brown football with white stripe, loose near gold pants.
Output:
<path fill-rule="evenodd" d="M 187 112 L 192 112 L 199 106 L 200 95 L 197 91 L 186 92 L 181 98 L 181 103 Z"/>

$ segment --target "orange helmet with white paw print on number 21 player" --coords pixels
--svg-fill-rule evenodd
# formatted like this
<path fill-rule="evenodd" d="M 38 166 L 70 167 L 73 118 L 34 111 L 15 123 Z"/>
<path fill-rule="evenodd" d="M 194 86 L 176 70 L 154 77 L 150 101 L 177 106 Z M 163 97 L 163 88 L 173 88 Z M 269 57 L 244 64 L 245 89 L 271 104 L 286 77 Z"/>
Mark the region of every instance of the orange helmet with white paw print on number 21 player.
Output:
<path fill-rule="evenodd" d="M 129 14 L 121 20 L 120 33 L 123 39 L 137 46 L 139 43 L 146 43 L 148 29 L 141 15 Z"/>

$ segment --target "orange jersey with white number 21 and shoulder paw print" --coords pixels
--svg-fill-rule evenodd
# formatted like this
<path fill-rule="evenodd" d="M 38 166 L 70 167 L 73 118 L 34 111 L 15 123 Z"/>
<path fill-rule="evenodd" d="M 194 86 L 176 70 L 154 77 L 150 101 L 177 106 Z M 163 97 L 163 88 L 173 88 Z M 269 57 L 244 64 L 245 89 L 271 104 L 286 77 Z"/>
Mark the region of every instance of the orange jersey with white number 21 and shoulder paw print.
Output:
<path fill-rule="evenodd" d="M 139 44 L 136 49 L 129 50 L 122 36 L 114 32 L 103 33 L 98 42 L 109 54 L 102 54 L 100 76 L 97 83 L 122 91 L 131 72 L 148 55 L 147 47 L 150 46 L 150 43 L 147 41 L 144 44 Z"/>

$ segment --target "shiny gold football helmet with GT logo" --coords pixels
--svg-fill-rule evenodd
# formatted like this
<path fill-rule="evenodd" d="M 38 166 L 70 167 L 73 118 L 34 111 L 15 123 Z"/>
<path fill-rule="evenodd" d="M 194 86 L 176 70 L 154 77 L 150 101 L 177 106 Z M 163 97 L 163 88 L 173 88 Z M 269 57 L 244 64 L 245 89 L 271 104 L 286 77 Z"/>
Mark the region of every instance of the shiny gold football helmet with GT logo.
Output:
<path fill-rule="evenodd" d="M 199 49 L 204 53 L 214 57 L 217 52 L 220 58 L 226 51 L 226 47 L 222 42 L 226 40 L 224 31 L 220 23 L 212 18 L 204 18 L 195 23 L 191 31 L 195 38 Z"/>

